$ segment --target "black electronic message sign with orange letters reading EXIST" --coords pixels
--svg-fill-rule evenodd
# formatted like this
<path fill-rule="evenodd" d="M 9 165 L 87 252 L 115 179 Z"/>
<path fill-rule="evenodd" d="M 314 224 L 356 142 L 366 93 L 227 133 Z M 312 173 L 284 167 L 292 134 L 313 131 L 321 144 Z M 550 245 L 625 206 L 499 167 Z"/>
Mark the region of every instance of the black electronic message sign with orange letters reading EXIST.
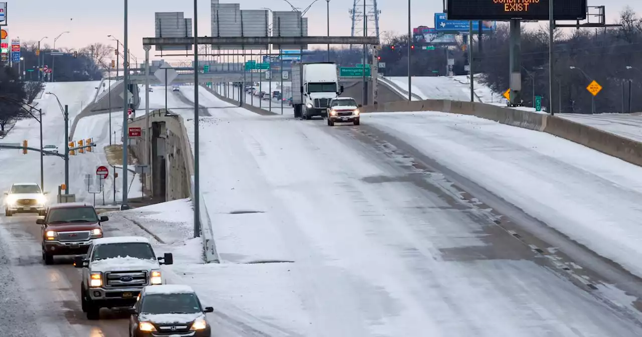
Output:
<path fill-rule="evenodd" d="M 556 20 L 586 19 L 587 0 L 555 0 Z M 448 0 L 449 20 L 548 20 L 549 0 Z"/>

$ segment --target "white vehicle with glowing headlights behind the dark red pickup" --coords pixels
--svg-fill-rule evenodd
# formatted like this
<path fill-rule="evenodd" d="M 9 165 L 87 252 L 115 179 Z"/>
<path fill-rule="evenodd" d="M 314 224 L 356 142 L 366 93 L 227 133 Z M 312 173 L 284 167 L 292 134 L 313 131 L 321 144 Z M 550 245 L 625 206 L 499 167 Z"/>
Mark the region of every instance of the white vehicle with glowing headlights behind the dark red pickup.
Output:
<path fill-rule="evenodd" d="M 23 182 L 13 184 L 9 191 L 4 192 L 4 215 L 15 213 L 38 213 L 44 216 L 47 207 L 46 192 L 42 192 L 38 184 Z"/>

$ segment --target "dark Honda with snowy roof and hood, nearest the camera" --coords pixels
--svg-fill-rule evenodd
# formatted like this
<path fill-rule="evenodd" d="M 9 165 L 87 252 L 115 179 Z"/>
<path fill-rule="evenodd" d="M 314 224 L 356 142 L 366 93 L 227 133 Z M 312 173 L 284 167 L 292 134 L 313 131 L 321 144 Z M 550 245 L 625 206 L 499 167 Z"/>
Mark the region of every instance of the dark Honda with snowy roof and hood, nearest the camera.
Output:
<path fill-rule="evenodd" d="M 214 308 L 202 307 L 190 286 L 146 286 L 129 311 L 132 314 L 130 336 L 210 337 L 212 334 L 205 313 L 213 312 Z"/>

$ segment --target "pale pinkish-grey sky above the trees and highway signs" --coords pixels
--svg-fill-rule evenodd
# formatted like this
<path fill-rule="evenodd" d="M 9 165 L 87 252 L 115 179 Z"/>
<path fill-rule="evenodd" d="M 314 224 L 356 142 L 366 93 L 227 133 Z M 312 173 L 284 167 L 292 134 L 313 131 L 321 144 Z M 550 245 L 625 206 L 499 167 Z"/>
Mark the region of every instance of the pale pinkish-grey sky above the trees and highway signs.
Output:
<path fill-rule="evenodd" d="M 305 9 L 313 0 L 288 0 L 297 8 Z M 362 3 L 363 0 L 359 0 Z M 367 0 L 374 1 L 374 0 Z M 65 33 L 56 41 L 56 47 L 82 48 L 95 42 L 112 44 L 107 35 L 114 35 L 122 40 L 124 33 L 124 1 L 87 1 L 87 0 L 6 0 L 6 30 L 9 39 L 22 41 L 43 40 L 53 46 L 53 40 L 63 31 Z M 221 3 L 240 3 L 241 9 L 291 10 L 285 0 L 221 0 Z M 330 35 L 349 36 L 351 18 L 349 10 L 353 0 L 330 0 Z M 630 0 L 589 0 L 589 6 L 607 4 L 607 22 L 617 19 L 620 11 L 628 4 L 642 14 L 642 1 Z M 400 0 L 378 0 L 381 10 L 379 18 L 380 31 L 405 33 L 408 29 L 408 5 Z M 326 3 L 318 0 L 309 9 L 309 35 L 326 34 Z M 175 0 L 132 0 L 128 8 L 128 47 L 139 59 L 144 58 L 143 37 L 154 36 L 155 12 L 185 12 L 191 18 L 194 13 L 193 1 Z M 433 27 L 435 12 L 442 12 L 442 0 L 412 0 L 411 25 Z M 198 31 L 200 36 L 211 33 L 211 0 L 198 0 Z M 154 51 L 150 55 L 154 57 Z"/>

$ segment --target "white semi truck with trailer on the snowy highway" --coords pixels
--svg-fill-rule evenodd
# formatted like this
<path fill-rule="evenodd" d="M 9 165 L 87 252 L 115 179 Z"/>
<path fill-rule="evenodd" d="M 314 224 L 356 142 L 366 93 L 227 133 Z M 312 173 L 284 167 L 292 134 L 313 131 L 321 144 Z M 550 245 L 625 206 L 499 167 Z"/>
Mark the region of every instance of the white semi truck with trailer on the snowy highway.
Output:
<path fill-rule="evenodd" d="M 327 116 L 330 101 L 343 93 L 343 85 L 339 85 L 337 73 L 334 62 L 292 65 L 294 117 L 312 119 L 314 116 Z"/>

